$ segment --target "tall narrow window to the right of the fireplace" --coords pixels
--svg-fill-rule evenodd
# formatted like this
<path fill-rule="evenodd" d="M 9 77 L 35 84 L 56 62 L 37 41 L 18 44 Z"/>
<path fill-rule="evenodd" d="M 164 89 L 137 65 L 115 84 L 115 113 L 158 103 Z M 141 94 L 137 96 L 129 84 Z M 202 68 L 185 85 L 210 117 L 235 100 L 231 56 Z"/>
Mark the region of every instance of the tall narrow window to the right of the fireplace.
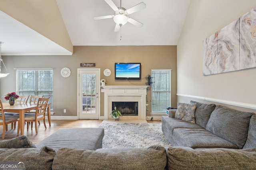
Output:
<path fill-rule="evenodd" d="M 171 105 L 171 70 L 151 70 L 152 113 L 166 113 L 166 108 Z"/>

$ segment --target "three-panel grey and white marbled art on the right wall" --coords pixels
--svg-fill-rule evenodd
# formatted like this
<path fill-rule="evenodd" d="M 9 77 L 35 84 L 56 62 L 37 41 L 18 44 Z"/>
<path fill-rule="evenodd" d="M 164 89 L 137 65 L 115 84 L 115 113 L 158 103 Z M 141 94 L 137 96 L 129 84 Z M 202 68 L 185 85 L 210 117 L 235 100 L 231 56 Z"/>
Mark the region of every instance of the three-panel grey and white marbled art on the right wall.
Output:
<path fill-rule="evenodd" d="M 203 75 L 256 67 L 256 8 L 203 41 Z"/>

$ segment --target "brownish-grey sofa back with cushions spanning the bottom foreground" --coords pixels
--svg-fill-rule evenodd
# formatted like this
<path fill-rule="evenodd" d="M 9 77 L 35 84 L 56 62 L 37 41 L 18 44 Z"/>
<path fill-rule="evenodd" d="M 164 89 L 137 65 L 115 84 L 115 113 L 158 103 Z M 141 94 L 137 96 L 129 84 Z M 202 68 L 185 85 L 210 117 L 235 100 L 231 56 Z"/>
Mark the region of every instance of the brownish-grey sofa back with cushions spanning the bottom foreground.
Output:
<path fill-rule="evenodd" d="M 72 142 L 75 141 L 69 143 Z M 37 148 L 26 136 L 20 136 L 0 141 L 0 167 L 12 161 L 26 164 L 26 170 L 255 170 L 256 148 L 192 149 L 153 145 L 145 149 L 89 150 L 73 146 L 54 150 L 46 146 Z"/>

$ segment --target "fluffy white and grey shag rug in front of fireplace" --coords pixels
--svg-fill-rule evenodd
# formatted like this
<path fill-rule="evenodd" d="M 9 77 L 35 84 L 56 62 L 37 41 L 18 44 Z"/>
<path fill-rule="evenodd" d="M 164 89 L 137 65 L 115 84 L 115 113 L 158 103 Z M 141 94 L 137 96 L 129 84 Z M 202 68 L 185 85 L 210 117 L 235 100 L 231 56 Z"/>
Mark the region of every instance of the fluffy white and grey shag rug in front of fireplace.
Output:
<path fill-rule="evenodd" d="M 105 123 L 102 148 L 147 148 L 151 145 L 170 147 L 161 130 L 162 123 Z"/>

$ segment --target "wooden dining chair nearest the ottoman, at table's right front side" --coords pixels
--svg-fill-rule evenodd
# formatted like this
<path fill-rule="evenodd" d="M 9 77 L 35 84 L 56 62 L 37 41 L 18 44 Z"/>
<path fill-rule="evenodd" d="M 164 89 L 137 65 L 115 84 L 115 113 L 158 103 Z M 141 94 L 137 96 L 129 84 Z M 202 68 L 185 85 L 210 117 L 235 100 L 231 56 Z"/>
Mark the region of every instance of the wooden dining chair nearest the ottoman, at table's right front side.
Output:
<path fill-rule="evenodd" d="M 35 122 L 36 133 L 38 133 L 37 122 L 42 119 L 44 120 L 44 127 L 46 129 L 45 113 L 46 113 L 46 107 L 47 107 L 49 98 L 38 98 L 38 102 L 37 102 L 37 106 L 36 106 L 36 113 L 25 114 L 25 122 L 27 122 L 27 123 L 30 122 L 31 128 L 32 128 L 32 123 Z M 20 119 L 18 119 L 18 120 L 20 120 Z M 20 122 L 18 122 L 17 134 L 19 134 L 19 133 L 20 133 Z"/>

